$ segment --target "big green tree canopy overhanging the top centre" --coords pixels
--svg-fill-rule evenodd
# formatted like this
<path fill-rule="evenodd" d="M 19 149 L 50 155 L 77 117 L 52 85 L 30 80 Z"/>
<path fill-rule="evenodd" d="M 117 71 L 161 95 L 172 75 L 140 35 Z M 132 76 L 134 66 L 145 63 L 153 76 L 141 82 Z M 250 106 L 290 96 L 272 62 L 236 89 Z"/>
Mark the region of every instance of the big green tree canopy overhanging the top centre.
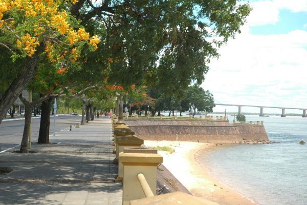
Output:
<path fill-rule="evenodd" d="M 82 25 L 95 18 L 105 27 L 100 65 L 109 84 L 159 85 L 171 95 L 204 80 L 216 48 L 250 12 L 239 2 L 79 0 L 70 11 Z"/>

